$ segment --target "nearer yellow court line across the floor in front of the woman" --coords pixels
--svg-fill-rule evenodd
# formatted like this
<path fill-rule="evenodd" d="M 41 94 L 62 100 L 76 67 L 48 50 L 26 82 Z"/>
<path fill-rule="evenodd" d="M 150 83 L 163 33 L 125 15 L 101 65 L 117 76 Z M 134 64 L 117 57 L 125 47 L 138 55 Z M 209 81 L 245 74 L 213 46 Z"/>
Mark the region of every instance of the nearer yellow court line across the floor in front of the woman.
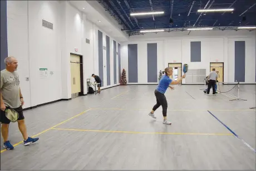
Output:
<path fill-rule="evenodd" d="M 57 130 L 73 130 L 83 132 L 107 132 L 107 133 L 129 133 L 129 134 L 169 134 L 169 135 L 233 135 L 231 133 L 171 133 L 171 132 L 133 132 L 133 131 L 119 131 L 119 130 L 90 130 L 90 129 L 64 129 L 52 128 Z"/>

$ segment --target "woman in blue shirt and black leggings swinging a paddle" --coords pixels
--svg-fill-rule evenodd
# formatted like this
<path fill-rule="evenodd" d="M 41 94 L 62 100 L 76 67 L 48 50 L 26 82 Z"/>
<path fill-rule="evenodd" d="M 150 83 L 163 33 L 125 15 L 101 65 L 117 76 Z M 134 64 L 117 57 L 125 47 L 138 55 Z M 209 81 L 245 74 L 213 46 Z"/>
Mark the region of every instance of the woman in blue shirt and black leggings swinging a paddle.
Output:
<path fill-rule="evenodd" d="M 173 81 L 170 79 L 170 76 L 173 75 L 173 68 L 165 68 L 165 75 L 160 79 L 158 86 L 155 89 L 155 97 L 156 97 L 156 104 L 152 108 L 151 112 L 149 115 L 152 118 L 156 118 L 154 115 L 154 112 L 157 108 L 160 107 L 160 105 L 163 108 L 163 116 L 164 116 L 164 124 L 171 124 L 169 120 L 166 119 L 166 113 L 167 113 L 167 107 L 168 103 L 165 97 L 165 92 L 170 87 L 171 89 L 174 89 L 173 87 L 170 86 L 170 84 L 179 84 L 183 78 L 185 78 L 185 75 L 179 78 L 177 81 Z"/>

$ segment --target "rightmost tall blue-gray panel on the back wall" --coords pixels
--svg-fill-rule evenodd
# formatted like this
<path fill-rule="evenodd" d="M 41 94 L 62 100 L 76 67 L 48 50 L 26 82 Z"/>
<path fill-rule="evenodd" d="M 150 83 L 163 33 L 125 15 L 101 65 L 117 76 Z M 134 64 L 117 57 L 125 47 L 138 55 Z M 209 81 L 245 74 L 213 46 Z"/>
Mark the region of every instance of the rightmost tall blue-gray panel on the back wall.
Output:
<path fill-rule="evenodd" d="M 235 80 L 245 82 L 245 41 L 235 41 Z"/>

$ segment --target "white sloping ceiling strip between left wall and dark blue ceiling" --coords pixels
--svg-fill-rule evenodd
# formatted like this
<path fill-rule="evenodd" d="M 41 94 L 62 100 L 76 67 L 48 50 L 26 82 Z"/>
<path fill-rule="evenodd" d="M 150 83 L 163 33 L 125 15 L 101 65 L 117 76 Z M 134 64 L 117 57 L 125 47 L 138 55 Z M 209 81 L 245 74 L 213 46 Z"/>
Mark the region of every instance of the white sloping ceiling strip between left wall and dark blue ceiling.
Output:
<path fill-rule="evenodd" d="M 110 16 L 109 13 L 97 1 L 69 1 L 72 6 L 86 14 L 86 19 L 95 23 L 108 36 L 114 38 L 118 42 L 128 40 L 127 35 L 121 31 L 121 27 Z M 85 8 L 85 9 L 83 9 Z M 101 22 L 99 22 L 101 21 Z"/>

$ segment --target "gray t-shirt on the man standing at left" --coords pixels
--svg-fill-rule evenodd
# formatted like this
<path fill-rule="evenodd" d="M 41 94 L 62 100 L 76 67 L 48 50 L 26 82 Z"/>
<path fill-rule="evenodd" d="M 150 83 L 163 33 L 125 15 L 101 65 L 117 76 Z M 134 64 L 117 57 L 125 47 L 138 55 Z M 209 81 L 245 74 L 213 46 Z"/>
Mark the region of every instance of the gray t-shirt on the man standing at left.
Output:
<path fill-rule="evenodd" d="M 10 108 L 21 106 L 19 97 L 19 76 L 16 71 L 9 72 L 6 69 L 1 71 L 1 94 L 3 103 Z"/>

